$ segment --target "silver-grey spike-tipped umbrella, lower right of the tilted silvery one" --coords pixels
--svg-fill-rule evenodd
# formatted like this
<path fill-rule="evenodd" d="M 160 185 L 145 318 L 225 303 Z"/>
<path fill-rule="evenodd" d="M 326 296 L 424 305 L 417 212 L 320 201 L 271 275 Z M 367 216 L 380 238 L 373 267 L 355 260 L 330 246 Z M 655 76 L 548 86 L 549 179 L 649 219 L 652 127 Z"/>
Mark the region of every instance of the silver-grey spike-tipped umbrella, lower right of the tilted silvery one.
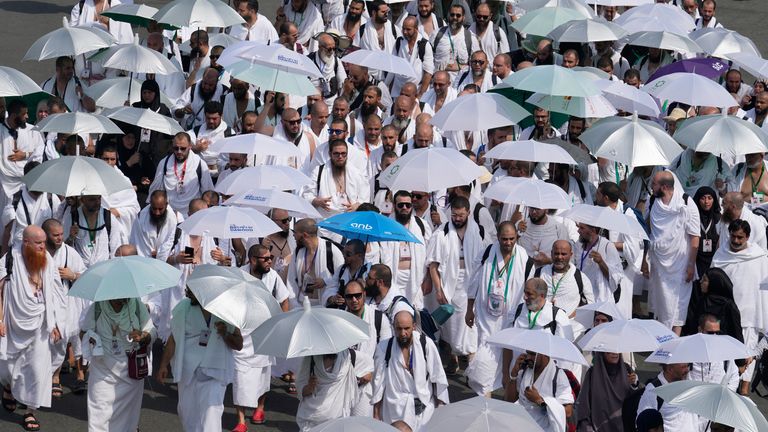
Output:
<path fill-rule="evenodd" d="M 252 334 L 253 352 L 281 358 L 335 354 L 370 338 L 368 323 L 340 309 L 304 307 L 268 319 Z"/>

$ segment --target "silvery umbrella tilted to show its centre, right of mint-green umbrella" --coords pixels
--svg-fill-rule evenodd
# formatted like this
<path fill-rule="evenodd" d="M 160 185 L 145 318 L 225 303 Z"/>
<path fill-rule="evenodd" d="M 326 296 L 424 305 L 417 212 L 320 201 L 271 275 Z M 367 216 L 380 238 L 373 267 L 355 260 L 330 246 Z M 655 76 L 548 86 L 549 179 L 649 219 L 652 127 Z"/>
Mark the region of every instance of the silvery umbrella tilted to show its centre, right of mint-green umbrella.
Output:
<path fill-rule="evenodd" d="M 264 282 L 239 268 L 199 265 L 187 278 L 187 286 L 205 310 L 244 335 L 282 312 Z"/>

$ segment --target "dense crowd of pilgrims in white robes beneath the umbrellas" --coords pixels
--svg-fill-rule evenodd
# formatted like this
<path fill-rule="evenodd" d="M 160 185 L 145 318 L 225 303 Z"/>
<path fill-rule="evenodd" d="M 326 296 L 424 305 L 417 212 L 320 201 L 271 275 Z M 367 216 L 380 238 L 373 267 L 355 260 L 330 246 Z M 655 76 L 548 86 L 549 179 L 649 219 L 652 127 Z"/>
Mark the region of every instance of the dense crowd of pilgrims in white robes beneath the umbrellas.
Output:
<path fill-rule="evenodd" d="M 96 26 L 118 43 L 132 43 L 130 24 L 102 15 L 121 3 L 81 1 L 70 24 Z M 274 23 L 260 13 L 258 0 L 231 3 L 243 24 L 178 30 L 150 24 L 143 37 L 142 44 L 167 56 L 178 72 L 134 76 L 141 92 L 132 106 L 172 118 L 186 132 L 169 136 L 125 123 L 118 123 L 121 134 L 39 132 L 30 117 L 39 122 L 105 108 L 89 88 L 125 73 L 86 56 L 56 59 L 53 76 L 41 84 L 51 96 L 36 106 L 0 98 L 0 383 L 3 408 L 21 410 L 25 430 L 55 429 L 41 425 L 36 410 L 63 397 L 62 366 L 76 374 L 72 392 L 87 393 L 90 431 L 137 430 L 144 377 L 129 367 L 126 353 L 153 346 L 159 359 L 151 373 L 178 386 L 185 431 L 222 428 L 230 384 L 237 423 L 223 426 L 244 432 L 248 423 L 268 422 L 273 376 L 298 398 L 291 414 L 301 430 L 366 416 L 417 431 L 451 402 L 447 377 L 458 375 L 479 396 L 519 404 L 546 431 L 733 430 L 665 403 L 655 388 L 695 379 L 750 393 L 768 329 L 768 296 L 761 291 L 768 280 L 765 153 L 721 157 L 683 149 L 669 166 L 640 167 L 591 156 L 592 163 L 577 166 L 494 160 L 487 151 L 515 140 L 554 140 L 589 152 L 579 136 L 595 119 L 571 116 L 556 124 L 553 113 L 536 108 L 525 127 L 510 122 L 455 132 L 431 123 L 445 106 L 523 69 L 597 68 L 639 88 L 682 59 L 680 53 L 618 42 L 557 47 L 515 31 L 512 24 L 526 11 L 513 1 L 290 0 L 277 8 Z M 722 27 L 715 0 L 656 3 L 681 8 L 697 28 Z M 594 11 L 613 21 L 625 9 Z M 217 63 L 227 44 L 215 41 L 226 41 L 225 35 L 306 55 L 321 72 L 312 79 L 316 94 L 297 97 L 234 77 Z M 358 48 L 401 57 L 416 76 L 345 63 L 343 55 Z M 720 80 L 736 102 L 728 114 L 768 132 L 768 84 L 749 85 L 736 68 L 723 70 Z M 664 109 L 650 120 L 670 135 L 688 118 L 721 110 L 682 103 Z M 249 134 L 257 143 L 262 136 L 293 143 L 300 156 L 211 148 Z M 431 147 L 455 149 L 488 175 L 438 191 L 381 184 L 381 173 L 398 158 Z M 23 182 L 41 163 L 74 155 L 100 158 L 132 189 L 62 197 Z M 419 242 L 348 240 L 279 206 L 268 216 L 280 230 L 264 238 L 218 239 L 177 228 L 222 205 L 229 196 L 217 186 L 227 177 L 262 165 L 306 174 L 311 182 L 293 193 L 323 218 L 378 212 Z M 637 218 L 650 241 L 576 223 L 554 209 L 484 197 L 489 184 L 506 177 L 545 180 L 573 204 Z M 178 286 L 96 303 L 67 295 L 93 265 L 129 255 L 178 268 Z M 300 359 L 255 353 L 246 331 L 253 329 L 212 315 L 187 288 L 201 264 L 239 267 L 260 279 L 283 312 L 301 307 L 305 297 L 315 307 L 346 310 L 369 325 L 370 339 Z M 617 316 L 594 312 L 587 325 L 575 319 L 579 307 L 600 302 L 615 304 Z M 429 333 L 423 311 L 444 305 L 452 315 L 437 335 Z M 507 328 L 574 341 L 590 328 L 631 317 L 655 319 L 677 335 L 727 334 L 755 356 L 663 365 L 643 383 L 632 353 L 596 352 L 584 368 L 488 342 Z"/>

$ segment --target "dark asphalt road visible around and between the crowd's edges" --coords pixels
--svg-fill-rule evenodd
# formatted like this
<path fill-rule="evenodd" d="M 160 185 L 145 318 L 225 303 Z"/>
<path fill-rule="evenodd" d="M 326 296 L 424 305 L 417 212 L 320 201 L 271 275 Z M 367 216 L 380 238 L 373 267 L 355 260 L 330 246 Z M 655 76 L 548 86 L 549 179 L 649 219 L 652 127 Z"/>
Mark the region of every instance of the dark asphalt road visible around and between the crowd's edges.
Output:
<path fill-rule="evenodd" d="M 149 0 L 151 6 L 166 2 Z M 75 2 L 73 0 L 0 0 L 0 65 L 20 69 L 34 80 L 42 82 L 53 74 L 53 60 L 44 62 L 21 62 L 29 46 L 39 36 L 61 26 L 61 18 L 68 16 Z M 278 2 L 261 2 L 261 13 L 274 18 Z M 764 55 L 768 55 L 768 2 L 766 0 L 720 0 L 716 16 L 728 28 L 750 37 Z M 658 369 L 653 365 L 639 366 L 641 379 L 655 375 Z M 63 375 L 65 394 L 54 400 L 52 409 L 39 413 L 42 430 L 84 431 L 87 430 L 85 395 L 71 394 L 67 387 L 74 381 L 71 375 Z M 285 392 L 285 384 L 273 380 L 272 391 L 267 397 L 267 423 L 249 426 L 251 431 L 295 431 L 294 413 L 298 401 Z M 457 380 L 451 380 L 451 400 L 457 401 L 473 396 L 469 389 Z M 753 398 L 764 413 L 768 413 L 765 399 Z M 178 431 L 181 424 L 176 416 L 175 386 L 161 386 L 154 380 L 147 380 L 144 392 L 140 429 L 144 432 Z M 235 412 L 231 394 L 225 405 L 228 407 L 223 418 L 224 430 L 234 426 Z M 0 431 L 22 430 L 21 416 L 10 415 L 0 410 Z"/>

